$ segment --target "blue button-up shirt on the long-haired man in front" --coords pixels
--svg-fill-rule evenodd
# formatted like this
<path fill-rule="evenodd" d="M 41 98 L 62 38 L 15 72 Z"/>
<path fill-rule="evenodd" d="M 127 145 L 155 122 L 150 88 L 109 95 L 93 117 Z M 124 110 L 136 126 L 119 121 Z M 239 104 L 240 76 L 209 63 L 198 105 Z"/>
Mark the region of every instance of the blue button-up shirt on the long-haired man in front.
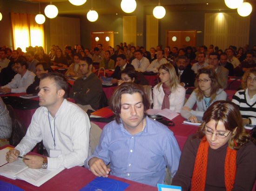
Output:
<path fill-rule="evenodd" d="M 123 124 L 108 123 L 101 133 L 99 145 L 85 161 L 97 157 L 110 163 L 111 175 L 147 185 L 162 184 L 168 166 L 173 177 L 178 169 L 181 151 L 173 132 L 162 123 L 146 118 L 146 127 L 130 134 Z"/>

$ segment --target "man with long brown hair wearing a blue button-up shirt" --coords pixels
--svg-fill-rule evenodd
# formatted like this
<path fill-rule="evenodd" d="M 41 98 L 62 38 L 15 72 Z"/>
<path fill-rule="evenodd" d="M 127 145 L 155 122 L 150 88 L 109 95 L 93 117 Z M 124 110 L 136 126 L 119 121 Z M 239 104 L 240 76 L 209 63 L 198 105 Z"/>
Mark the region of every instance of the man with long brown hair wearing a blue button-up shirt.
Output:
<path fill-rule="evenodd" d="M 108 177 L 110 173 L 152 186 L 164 182 L 166 166 L 171 176 L 175 175 L 181 153 L 179 146 L 168 127 L 145 116 L 148 107 L 140 85 L 118 86 L 111 102 L 115 121 L 103 128 L 99 145 L 85 161 L 94 175 Z"/>

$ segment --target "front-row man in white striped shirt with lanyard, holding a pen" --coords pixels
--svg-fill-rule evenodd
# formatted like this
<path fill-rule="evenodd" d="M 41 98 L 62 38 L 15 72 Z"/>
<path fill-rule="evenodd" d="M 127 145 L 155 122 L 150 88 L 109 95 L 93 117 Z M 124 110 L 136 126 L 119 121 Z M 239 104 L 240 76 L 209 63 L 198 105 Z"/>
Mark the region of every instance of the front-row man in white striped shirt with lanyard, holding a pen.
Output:
<path fill-rule="evenodd" d="M 81 166 L 88 157 L 90 121 L 88 115 L 68 102 L 68 84 L 64 76 L 47 73 L 40 80 L 39 105 L 27 129 L 27 134 L 15 149 L 7 152 L 13 162 L 31 151 L 43 140 L 49 157 L 23 156 L 30 168 L 71 168 Z"/>

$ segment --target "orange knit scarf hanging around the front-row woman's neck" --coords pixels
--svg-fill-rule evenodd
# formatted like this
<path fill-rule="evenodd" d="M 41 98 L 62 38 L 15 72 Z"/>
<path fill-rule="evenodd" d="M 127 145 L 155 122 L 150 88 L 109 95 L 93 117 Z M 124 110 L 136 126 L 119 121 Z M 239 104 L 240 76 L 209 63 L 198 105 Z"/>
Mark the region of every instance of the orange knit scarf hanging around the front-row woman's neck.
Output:
<path fill-rule="evenodd" d="M 209 143 L 205 137 L 202 138 L 198 147 L 195 166 L 192 175 L 190 191 L 204 191 Z M 236 150 L 227 147 L 224 165 L 225 187 L 227 191 L 233 188 L 236 177 Z"/>

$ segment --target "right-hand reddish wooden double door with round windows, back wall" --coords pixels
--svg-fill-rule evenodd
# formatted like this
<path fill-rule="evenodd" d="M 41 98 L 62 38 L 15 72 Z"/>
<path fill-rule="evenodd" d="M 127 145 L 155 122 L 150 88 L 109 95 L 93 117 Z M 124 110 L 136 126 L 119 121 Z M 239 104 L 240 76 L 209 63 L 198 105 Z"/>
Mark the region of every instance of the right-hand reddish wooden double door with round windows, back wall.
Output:
<path fill-rule="evenodd" d="M 195 46 L 196 44 L 196 30 L 175 31 L 168 30 L 166 32 L 166 45 L 173 48 L 184 48 L 187 46 Z"/>

